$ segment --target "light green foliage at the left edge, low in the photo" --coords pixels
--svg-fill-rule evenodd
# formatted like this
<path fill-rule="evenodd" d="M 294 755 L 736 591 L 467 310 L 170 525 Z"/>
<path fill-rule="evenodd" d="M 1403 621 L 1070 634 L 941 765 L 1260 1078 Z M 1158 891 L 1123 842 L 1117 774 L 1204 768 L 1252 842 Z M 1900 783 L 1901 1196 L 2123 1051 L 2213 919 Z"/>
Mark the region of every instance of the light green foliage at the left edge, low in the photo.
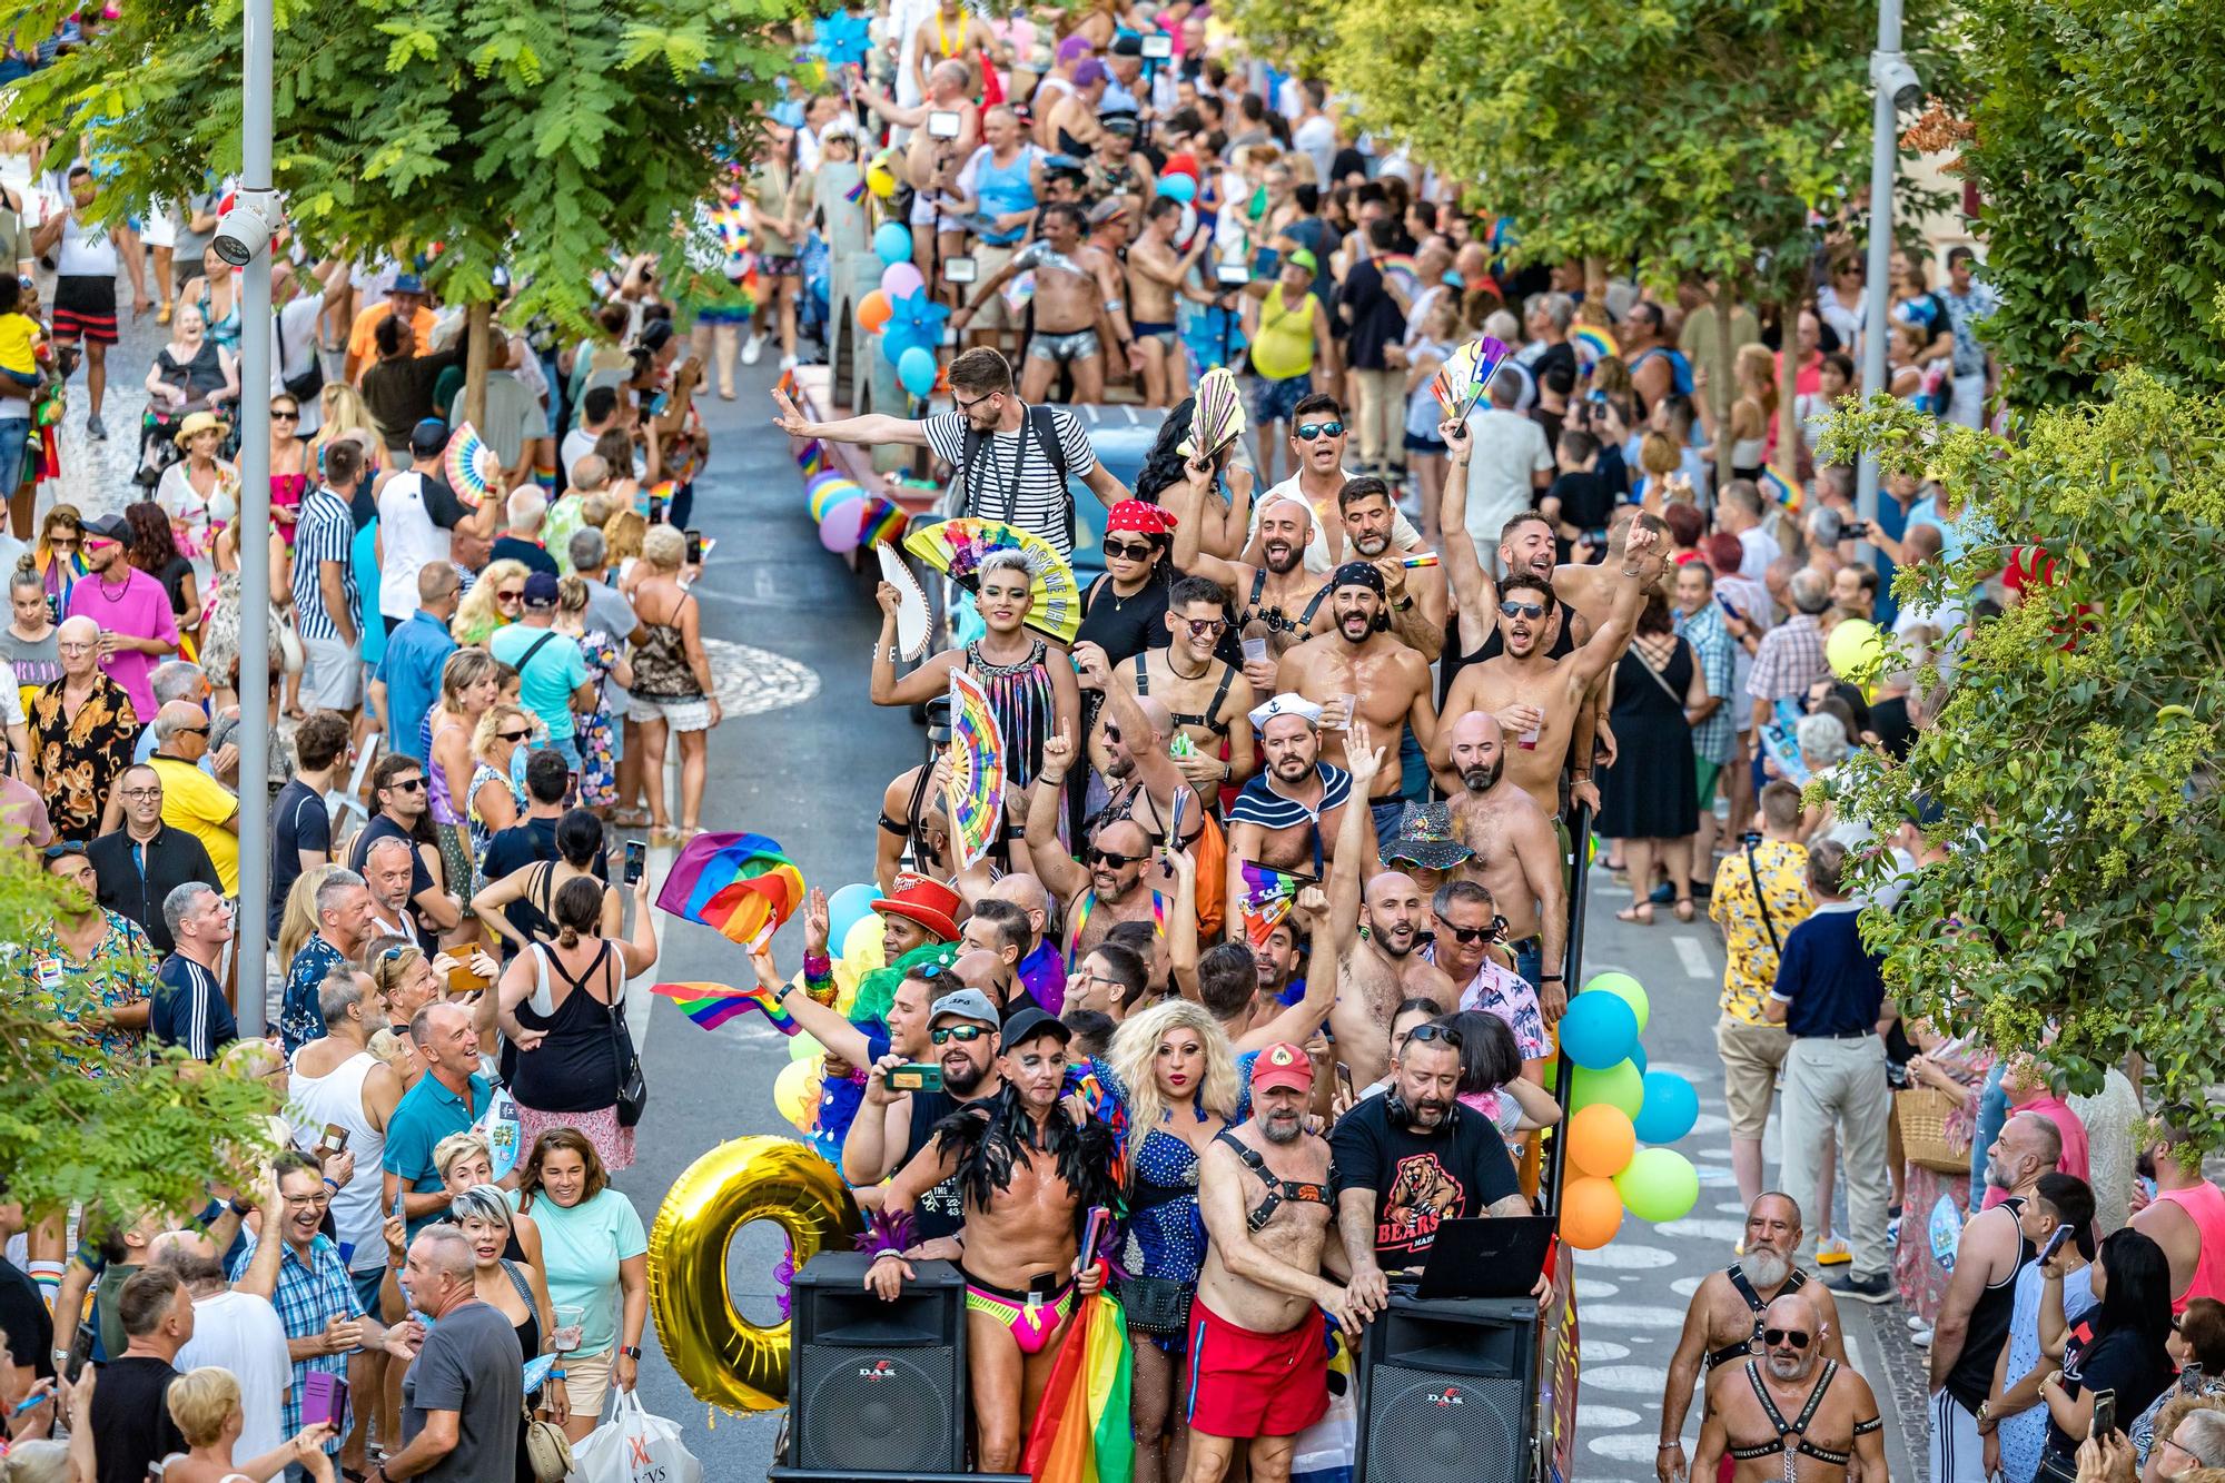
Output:
<path fill-rule="evenodd" d="M 0 855 L 0 1173 L 7 1198 L 33 1214 L 91 1202 L 109 1211 L 194 1211 L 207 1182 L 245 1176 L 265 1149 L 269 1091 L 245 1076 L 167 1051 L 151 1064 L 62 1038 L 58 1020 L 24 991 L 22 940 L 65 906 L 58 882 L 29 851 Z M 154 989 L 154 962 L 136 975 Z M 65 1004 L 89 1006 L 80 975 Z M 58 1053 L 100 1071 L 58 1069 Z"/>

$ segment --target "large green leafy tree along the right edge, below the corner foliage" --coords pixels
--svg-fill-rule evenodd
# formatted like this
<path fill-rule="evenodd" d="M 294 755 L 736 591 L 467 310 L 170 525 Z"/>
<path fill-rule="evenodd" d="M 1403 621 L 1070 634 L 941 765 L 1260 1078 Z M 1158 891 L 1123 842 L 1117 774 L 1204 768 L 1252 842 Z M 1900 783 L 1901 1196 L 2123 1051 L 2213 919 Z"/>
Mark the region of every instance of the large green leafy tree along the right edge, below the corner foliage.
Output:
<path fill-rule="evenodd" d="M 1949 857 L 1893 913 L 1865 915 L 1887 980 L 1909 1013 L 1996 1049 L 2056 1024 L 2049 1060 L 2078 1091 L 2136 1049 L 2149 1104 L 2216 1147 L 2225 399 L 2127 372 L 2112 401 L 2045 410 L 2014 445 L 1873 399 L 1840 414 L 1824 456 L 1853 448 L 1929 470 L 1978 530 L 2054 563 L 2051 583 L 1976 628 L 1907 764 L 1865 755 L 1840 790 L 1880 833 L 1918 795 L 1945 811 L 1931 835 Z M 1967 592 L 2005 557 L 1978 539 L 1958 566 L 1905 568 L 1896 592 Z"/>

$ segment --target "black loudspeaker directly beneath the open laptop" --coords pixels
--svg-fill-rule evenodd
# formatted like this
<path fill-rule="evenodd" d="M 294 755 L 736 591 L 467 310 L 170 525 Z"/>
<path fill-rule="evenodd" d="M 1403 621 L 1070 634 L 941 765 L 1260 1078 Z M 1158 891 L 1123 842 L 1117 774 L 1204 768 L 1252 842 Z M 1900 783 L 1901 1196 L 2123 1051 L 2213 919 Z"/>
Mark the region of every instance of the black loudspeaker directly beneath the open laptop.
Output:
<path fill-rule="evenodd" d="M 1355 1483 L 1526 1483 L 1537 1303 L 1393 1292 L 1359 1356 Z"/>

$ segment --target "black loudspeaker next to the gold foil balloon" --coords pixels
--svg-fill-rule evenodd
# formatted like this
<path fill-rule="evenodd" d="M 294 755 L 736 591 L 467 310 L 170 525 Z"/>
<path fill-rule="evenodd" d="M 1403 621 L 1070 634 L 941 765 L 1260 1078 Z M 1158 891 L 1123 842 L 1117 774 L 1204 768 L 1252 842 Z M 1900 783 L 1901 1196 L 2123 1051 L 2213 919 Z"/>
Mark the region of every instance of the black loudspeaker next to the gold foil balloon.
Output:
<path fill-rule="evenodd" d="M 790 1287 L 788 1467 L 841 1476 L 966 1470 L 966 1278 L 912 1263 L 894 1303 L 863 1251 L 821 1251 Z"/>

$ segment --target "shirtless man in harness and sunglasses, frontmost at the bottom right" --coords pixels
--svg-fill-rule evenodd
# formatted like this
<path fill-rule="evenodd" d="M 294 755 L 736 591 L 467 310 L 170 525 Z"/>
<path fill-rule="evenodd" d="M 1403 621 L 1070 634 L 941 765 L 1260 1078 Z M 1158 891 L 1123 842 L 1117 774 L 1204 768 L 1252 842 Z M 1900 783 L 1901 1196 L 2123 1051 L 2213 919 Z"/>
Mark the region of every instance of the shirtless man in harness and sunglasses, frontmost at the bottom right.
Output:
<path fill-rule="evenodd" d="M 1840 1483 L 1851 1459 L 1860 1459 L 1865 1479 L 1882 1479 L 1878 1398 L 1869 1381 L 1824 1358 L 1822 1320 L 1807 1292 L 1762 1309 L 1762 1345 L 1764 1358 L 1724 1365 L 1709 1378 L 1693 1476 L 1715 1476 L 1729 1454 L 1736 1483 Z"/>

